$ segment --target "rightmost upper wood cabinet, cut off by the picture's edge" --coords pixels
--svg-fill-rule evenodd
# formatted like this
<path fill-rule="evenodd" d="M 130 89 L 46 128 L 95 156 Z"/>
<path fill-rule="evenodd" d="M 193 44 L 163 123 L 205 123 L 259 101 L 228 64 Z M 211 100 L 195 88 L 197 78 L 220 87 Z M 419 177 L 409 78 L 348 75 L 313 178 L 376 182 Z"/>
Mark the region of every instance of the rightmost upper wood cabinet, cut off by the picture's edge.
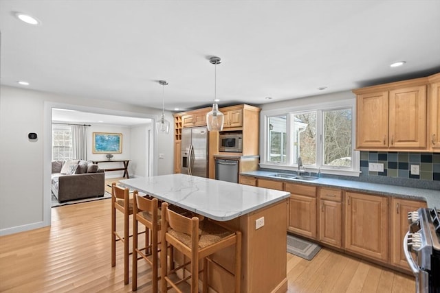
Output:
<path fill-rule="evenodd" d="M 440 152 L 440 73 L 430 77 L 430 130 L 428 145 L 432 152 Z"/>

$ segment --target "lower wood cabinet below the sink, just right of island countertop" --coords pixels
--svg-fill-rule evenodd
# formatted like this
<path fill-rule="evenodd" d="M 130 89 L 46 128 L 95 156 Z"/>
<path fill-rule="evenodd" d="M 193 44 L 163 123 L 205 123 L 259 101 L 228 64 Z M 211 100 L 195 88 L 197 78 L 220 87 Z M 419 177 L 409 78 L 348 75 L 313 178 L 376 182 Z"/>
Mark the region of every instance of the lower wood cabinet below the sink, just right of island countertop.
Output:
<path fill-rule="evenodd" d="M 286 183 L 290 192 L 287 230 L 316 239 L 316 187 Z"/>

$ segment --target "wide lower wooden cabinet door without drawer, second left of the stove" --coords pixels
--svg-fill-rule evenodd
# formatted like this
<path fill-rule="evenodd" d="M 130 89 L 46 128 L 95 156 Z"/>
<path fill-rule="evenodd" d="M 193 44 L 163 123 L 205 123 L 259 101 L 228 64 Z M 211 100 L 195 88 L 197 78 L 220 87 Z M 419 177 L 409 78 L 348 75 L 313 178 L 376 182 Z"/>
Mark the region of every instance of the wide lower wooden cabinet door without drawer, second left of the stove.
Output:
<path fill-rule="evenodd" d="M 347 192 L 345 248 L 388 260 L 388 198 Z"/>

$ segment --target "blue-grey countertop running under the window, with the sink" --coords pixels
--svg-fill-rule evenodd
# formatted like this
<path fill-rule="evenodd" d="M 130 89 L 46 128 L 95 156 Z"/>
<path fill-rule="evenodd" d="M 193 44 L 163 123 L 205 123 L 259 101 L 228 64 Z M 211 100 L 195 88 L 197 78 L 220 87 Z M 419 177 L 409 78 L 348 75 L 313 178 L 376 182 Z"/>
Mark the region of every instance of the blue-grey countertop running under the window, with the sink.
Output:
<path fill-rule="evenodd" d="M 291 183 L 301 183 L 306 185 L 315 185 L 322 187 L 338 187 L 349 191 L 371 192 L 382 196 L 393 196 L 399 198 L 408 198 L 415 200 L 424 200 L 428 207 L 440 209 L 440 190 L 422 189 L 414 187 L 403 187 L 397 185 L 386 185 L 377 183 L 366 183 L 352 180 L 340 180 L 333 178 L 318 178 L 313 181 L 295 180 L 287 178 L 278 178 L 272 176 L 277 172 L 269 171 L 248 171 L 241 172 L 241 175 L 254 176 L 260 178 L 270 178 Z M 283 173 L 283 172 L 278 172 Z"/>

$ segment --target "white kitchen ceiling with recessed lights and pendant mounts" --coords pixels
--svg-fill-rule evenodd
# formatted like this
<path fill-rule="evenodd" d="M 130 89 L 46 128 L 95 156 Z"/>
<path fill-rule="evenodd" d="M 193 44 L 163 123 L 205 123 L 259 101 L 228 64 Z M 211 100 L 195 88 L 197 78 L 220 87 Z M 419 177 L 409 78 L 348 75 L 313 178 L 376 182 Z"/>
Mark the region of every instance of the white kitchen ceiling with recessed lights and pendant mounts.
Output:
<path fill-rule="evenodd" d="M 166 109 L 186 110 L 211 103 L 219 56 L 220 106 L 346 91 L 440 71 L 439 11 L 438 0 L 0 0 L 1 84 L 161 108 L 167 80 Z"/>

